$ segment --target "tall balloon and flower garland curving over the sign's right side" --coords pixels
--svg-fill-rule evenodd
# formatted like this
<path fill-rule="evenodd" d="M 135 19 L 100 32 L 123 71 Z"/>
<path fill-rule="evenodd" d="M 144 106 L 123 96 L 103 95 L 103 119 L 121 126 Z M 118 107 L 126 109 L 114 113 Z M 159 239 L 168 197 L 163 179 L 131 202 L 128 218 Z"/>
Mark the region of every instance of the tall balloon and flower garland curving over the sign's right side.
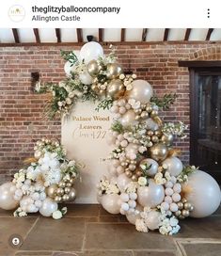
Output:
<path fill-rule="evenodd" d="M 213 214 L 221 200 L 218 184 L 204 171 L 183 167 L 172 147 L 186 126 L 159 117 L 160 108 L 173 100 L 159 101 L 147 81 L 125 74 L 116 56 L 104 56 L 97 42 L 62 56 L 67 79 L 41 88 L 52 91 L 50 116 L 68 115 L 78 100 L 98 100 L 99 108 L 114 115 L 108 143 L 115 149 L 109 174 L 98 184 L 103 208 L 126 216 L 139 232 L 163 234 L 179 232 L 179 220 L 187 216 Z"/>

